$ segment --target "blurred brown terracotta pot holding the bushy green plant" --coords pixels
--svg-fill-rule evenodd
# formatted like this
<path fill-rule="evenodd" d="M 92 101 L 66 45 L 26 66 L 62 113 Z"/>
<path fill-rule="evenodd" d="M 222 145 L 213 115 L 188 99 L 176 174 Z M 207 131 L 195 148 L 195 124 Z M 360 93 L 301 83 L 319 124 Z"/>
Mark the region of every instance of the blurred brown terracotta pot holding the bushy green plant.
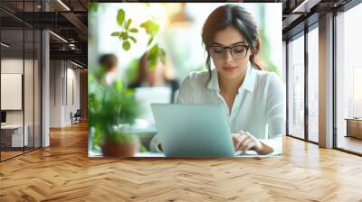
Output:
<path fill-rule="evenodd" d="M 127 158 L 132 157 L 138 151 L 137 144 L 130 143 L 116 143 L 116 144 L 102 144 L 100 145 L 103 156 Z"/>

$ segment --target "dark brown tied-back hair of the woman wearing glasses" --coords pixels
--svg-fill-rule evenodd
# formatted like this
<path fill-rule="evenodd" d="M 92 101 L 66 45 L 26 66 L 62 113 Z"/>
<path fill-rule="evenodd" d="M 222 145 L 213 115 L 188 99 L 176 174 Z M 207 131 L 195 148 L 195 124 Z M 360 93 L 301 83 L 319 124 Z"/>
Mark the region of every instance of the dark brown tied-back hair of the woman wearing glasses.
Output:
<path fill-rule="evenodd" d="M 257 24 L 255 23 L 252 14 L 239 5 L 220 6 L 207 17 L 202 33 L 203 43 L 205 44 L 206 50 L 210 43 L 214 40 L 215 33 L 220 30 L 224 30 L 230 25 L 233 25 L 233 27 L 245 36 L 249 49 L 252 50 L 250 62 L 255 69 L 262 70 L 262 64 L 257 59 L 257 54 L 260 50 L 261 44 Z M 211 77 L 210 59 L 209 51 L 207 51 L 205 64 Z"/>

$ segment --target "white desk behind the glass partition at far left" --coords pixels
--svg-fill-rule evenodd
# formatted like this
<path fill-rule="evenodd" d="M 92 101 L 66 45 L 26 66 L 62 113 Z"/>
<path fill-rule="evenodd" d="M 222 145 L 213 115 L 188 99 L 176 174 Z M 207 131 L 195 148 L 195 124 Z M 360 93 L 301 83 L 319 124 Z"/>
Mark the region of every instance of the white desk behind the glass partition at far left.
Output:
<path fill-rule="evenodd" d="M 24 124 L 24 140 L 23 140 L 23 124 L 5 124 L 1 125 L 2 136 L 9 135 L 11 133 L 11 147 L 23 147 L 28 146 L 28 131 L 29 126 Z M 4 134 L 5 133 L 5 134 Z"/>

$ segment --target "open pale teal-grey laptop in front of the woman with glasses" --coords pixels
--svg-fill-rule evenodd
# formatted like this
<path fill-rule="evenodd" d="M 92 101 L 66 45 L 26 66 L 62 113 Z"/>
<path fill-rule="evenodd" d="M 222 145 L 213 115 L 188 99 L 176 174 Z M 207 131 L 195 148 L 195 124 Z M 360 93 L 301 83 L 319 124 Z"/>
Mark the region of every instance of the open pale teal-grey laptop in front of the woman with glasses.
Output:
<path fill-rule="evenodd" d="M 222 106 L 151 104 L 166 157 L 233 157 L 235 150 Z"/>

